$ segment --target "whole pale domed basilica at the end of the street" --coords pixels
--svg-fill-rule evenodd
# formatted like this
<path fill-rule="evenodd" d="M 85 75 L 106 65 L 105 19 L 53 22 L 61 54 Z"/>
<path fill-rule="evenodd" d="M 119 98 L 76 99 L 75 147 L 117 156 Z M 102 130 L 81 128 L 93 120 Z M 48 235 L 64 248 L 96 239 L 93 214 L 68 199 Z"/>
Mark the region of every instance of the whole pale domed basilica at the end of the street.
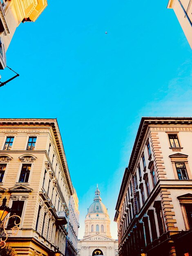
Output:
<path fill-rule="evenodd" d="M 85 234 L 83 239 L 78 241 L 78 255 L 118 255 L 118 241 L 112 239 L 109 215 L 101 202 L 98 187 L 94 202 L 89 206 L 85 217 Z"/>

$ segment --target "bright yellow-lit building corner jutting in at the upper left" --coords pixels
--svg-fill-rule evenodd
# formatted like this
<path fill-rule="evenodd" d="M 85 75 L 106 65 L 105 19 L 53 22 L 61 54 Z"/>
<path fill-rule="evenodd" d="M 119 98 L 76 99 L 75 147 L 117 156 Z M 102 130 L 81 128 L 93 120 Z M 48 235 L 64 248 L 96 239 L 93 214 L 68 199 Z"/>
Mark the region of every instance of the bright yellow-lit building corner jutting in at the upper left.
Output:
<path fill-rule="evenodd" d="M 0 0 L 0 69 L 6 67 L 6 52 L 21 22 L 35 21 L 47 0 Z"/>

